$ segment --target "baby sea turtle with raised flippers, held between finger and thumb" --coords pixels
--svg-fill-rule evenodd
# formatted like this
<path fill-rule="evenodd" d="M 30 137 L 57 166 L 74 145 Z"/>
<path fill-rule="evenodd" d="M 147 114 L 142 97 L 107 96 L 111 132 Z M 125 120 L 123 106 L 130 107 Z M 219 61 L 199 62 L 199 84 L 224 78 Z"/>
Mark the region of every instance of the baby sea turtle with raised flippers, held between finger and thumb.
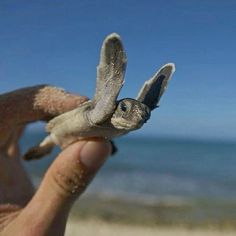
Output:
<path fill-rule="evenodd" d="M 95 96 L 77 108 L 63 113 L 47 124 L 50 133 L 38 146 L 31 148 L 25 159 L 38 159 L 51 152 L 54 145 L 65 148 L 69 144 L 91 137 L 113 137 L 142 127 L 158 107 L 175 66 L 168 63 L 141 88 L 136 99 L 117 101 L 124 84 L 126 54 L 118 34 L 113 33 L 103 42 L 97 67 Z"/>

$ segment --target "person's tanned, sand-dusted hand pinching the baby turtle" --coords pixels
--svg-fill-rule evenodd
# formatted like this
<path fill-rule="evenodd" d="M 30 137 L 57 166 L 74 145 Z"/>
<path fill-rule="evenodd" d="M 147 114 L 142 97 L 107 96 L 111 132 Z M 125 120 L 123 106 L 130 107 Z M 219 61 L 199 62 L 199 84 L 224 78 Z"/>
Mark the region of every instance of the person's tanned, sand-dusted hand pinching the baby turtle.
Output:
<path fill-rule="evenodd" d="M 0 95 L 0 236 L 62 236 L 74 201 L 111 153 L 104 140 L 65 148 L 35 191 L 21 160 L 18 140 L 25 125 L 47 121 L 87 98 L 41 85 Z"/>

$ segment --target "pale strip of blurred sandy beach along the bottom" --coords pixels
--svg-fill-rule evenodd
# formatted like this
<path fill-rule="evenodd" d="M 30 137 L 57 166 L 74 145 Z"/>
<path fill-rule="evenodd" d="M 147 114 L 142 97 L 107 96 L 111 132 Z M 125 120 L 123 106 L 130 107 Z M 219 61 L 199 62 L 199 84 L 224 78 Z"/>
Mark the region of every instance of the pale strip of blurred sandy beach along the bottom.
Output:
<path fill-rule="evenodd" d="M 235 236 L 233 230 L 185 229 L 178 227 L 147 227 L 108 223 L 99 220 L 70 220 L 66 236 Z"/>

